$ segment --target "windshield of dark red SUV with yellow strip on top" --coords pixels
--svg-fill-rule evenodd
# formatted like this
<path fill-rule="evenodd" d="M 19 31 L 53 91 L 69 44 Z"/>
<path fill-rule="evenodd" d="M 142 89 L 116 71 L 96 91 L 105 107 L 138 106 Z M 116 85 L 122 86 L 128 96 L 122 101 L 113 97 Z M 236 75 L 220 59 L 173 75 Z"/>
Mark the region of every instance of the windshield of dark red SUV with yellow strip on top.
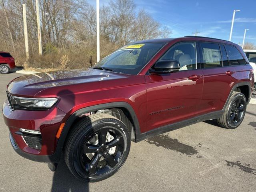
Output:
<path fill-rule="evenodd" d="M 100 60 L 93 68 L 135 75 L 165 44 L 152 42 L 127 45 Z"/>

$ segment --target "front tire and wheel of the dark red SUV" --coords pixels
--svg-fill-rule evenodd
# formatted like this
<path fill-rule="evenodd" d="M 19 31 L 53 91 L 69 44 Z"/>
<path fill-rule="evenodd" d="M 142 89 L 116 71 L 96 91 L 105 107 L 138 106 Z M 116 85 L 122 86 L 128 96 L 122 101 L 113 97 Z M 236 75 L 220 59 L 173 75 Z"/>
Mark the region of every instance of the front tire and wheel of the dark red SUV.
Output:
<path fill-rule="evenodd" d="M 92 114 L 74 126 L 65 148 L 65 161 L 72 174 L 97 182 L 115 174 L 130 151 L 130 134 L 114 116 Z"/>

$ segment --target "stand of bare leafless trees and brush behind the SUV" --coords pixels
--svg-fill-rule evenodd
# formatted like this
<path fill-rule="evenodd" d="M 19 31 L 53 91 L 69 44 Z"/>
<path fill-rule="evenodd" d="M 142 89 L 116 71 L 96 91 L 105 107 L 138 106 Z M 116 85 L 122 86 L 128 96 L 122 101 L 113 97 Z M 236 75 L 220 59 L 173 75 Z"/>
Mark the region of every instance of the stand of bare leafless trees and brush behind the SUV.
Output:
<path fill-rule="evenodd" d="M 35 1 L 2 0 L 0 50 L 12 52 L 17 65 L 22 65 L 26 59 L 22 4 L 26 4 L 27 12 L 30 50 L 28 66 L 61 68 L 65 57 L 69 60 L 70 68 L 86 67 L 96 61 L 96 9 L 86 0 L 39 0 L 42 56 L 37 54 Z M 124 44 L 169 37 L 170 34 L 169 28 L 161 26 L 145 10 L 137 11 L 134 0 L 110 0 L 107 5 L 100 7 L 102 57 Z"/>

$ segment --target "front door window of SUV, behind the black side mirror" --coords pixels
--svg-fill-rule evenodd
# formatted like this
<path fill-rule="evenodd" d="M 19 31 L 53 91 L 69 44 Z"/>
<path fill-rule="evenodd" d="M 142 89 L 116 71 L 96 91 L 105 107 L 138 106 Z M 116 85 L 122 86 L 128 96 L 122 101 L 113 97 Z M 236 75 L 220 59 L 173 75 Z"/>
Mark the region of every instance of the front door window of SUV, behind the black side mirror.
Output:
<path fill-rule="evenodd" d="M 172 46 L 159 60 L 180 62 L 180 71 L 196 69 L 196 43 L 182 42 Z"/>

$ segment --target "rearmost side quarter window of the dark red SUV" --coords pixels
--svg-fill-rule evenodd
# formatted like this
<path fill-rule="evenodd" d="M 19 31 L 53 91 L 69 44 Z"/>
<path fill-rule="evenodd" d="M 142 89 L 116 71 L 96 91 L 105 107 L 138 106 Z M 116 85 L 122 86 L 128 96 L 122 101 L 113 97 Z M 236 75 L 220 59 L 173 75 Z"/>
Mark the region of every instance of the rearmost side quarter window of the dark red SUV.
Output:
<path fill-rule="evenodd" d="M 235 46 L 225 45 L 228 52 L 228 57 L 231 65 L 245 65 L 246 61 L 244 60 L 242 54 L 238 51 Z"/>

